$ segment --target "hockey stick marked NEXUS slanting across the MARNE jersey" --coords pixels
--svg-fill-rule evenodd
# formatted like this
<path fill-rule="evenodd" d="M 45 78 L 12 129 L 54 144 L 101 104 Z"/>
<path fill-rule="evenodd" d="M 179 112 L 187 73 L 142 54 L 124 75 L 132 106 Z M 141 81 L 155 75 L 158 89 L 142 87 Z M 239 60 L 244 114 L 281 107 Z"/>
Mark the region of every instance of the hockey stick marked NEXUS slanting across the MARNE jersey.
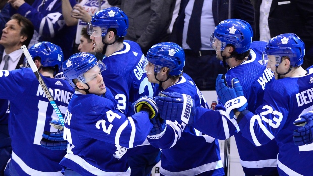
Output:
<path fill-rule="evenodd" d="M 58 115 L 58 118 L 62 124 L 62 126 L 64 126 L 64 119 L 63 116 L 61 114 L 60 109 L 58 108 L 56 102 L 54 101 L 53 97 L 51 96 L 50 92 L 49 92 L 49 88 L 47 87 L 47 85 L 45 84 L 45 82 L 43 81 L 41 75 L 39 74 L 38 68 L 35 65 L 33 58 L 31 58 L 30 53 L 28 52 L 28 49 L 25 45 L 23 45 L 21 47 L 21 49 L 23 50 L 23 53 L 27 59 L 27 62 L 29 63 L 31 70 L 33 70 L 34 74 L 36 75 L 45 95 L 47 96 L 48 100 L 50 101 L 50 104 L 52 105 L 53 109 L 55 110 L 56 114 Z"/>

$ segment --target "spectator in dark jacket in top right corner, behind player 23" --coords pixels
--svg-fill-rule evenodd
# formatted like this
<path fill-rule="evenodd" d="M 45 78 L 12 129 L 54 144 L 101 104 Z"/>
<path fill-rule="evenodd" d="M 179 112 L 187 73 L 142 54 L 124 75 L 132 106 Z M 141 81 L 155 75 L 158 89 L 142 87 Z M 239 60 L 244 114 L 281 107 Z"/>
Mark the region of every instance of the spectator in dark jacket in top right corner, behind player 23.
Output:
<path fill-rule="evenodd" d="M 256 39 L 268 42 L 283 33 L 295 33 L 305 43 L 302 67 L 313 65 L 313 1 L 253 0 Z"/>

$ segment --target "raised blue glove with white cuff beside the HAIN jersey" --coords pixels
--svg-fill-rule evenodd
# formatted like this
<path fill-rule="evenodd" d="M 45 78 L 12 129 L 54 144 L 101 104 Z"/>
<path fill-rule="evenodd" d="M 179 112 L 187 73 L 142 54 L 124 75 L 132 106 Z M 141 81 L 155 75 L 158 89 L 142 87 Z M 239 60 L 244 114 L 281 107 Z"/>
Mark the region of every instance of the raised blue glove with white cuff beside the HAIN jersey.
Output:
<path fill-rule="evenodd" d="M 247 99 L 243 96 L 242 86 L 237 78 L 232 79 L 232 88 L 230 88 L 227 86 L 225 75 L 219 74 L 215 89 L 230 118 L 234 117 L 235 109 L 241 112 L 248 106 Z"/>

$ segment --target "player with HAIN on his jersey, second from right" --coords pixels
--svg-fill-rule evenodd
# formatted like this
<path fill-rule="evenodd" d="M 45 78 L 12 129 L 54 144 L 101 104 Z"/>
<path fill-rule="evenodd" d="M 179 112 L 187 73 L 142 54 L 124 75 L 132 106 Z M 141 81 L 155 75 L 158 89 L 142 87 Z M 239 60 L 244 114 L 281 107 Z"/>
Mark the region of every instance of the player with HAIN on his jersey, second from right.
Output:
<path fill-rule="evenodd" d="M 264 89 L 274 81 L 274 76 L 269 69 L 260 64 L 266 42 L 251 43 L 252 36 L 249 23 L 239 19 L 224 20 L 211 34 L 211 46 L 217 51 L 217 58 L 223 61 L 224 66 L 230 67 L 225 75 L 227 85 L 232 85 L 232 79 L 237 77 L 244 96 L 248 99 L 247 109 L 255 111 L 263 103 Z M 158 103 L 158 100 L 156 102 Z M 158 103 L 159 105 L 163 104 Z M 242 136 L 236 121 L 229 118 L 229 115 L 221 109 L 221 105 L 220 102 L 216 106 L 216 109 L 220 109 L 218 112 L 197 107 L 197 115 L 189 124 L 200 132 L 221 140 L 234 135 L 245 175 L 278 175 L 276 164 L 278 146 L 275 141 L 255 147 Z M 161 111 L 164 108 L 160 107 L 160 115 L 163 114 Z M 177 117 L 180 118 L 179 115 Z M 163 118 L 170 120 L 170 114 Z"/>

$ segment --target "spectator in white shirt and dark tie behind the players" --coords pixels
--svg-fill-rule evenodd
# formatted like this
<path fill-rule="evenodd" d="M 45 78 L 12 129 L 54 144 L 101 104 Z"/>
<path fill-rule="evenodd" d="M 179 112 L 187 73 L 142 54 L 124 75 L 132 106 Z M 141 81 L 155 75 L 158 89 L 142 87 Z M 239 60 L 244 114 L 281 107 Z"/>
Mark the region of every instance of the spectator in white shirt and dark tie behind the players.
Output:
<path fill-rule="evenodd" d="M 228 14 L 226 12 L 230 12 Z M 239 18 L 253 26 L 253 6 L 249 0 L 182 0 L 171 42 L 180 45 L 185 52 L 184 72 L 196 83 L 200 90 L 215 90 L 218 74 L 226 69 L 216 60 L 216 51 L 210 47 L 210 34 L 215 26 L 228 18 Z"/>

